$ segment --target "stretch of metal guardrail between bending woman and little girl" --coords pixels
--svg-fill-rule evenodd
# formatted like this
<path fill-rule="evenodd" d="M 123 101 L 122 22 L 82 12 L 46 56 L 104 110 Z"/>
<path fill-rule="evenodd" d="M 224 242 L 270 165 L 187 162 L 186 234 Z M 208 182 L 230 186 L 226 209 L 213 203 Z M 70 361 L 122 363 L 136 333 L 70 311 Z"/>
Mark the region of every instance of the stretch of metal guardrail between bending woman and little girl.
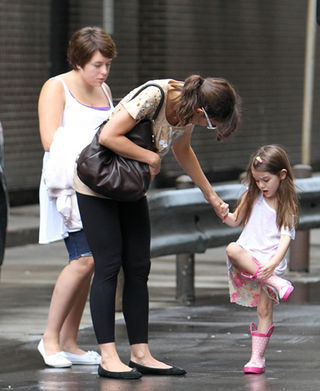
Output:
<path fill-rule="evenodd" d="M 216 186 L 230 206 L 242 194 L 242 185 Z M 215 215 L 198 188 L 168 190 L 148 197 L 151 217 L 151 254 L 203 253 L 235 239 L 240 228 L 230 228 Z"/>

